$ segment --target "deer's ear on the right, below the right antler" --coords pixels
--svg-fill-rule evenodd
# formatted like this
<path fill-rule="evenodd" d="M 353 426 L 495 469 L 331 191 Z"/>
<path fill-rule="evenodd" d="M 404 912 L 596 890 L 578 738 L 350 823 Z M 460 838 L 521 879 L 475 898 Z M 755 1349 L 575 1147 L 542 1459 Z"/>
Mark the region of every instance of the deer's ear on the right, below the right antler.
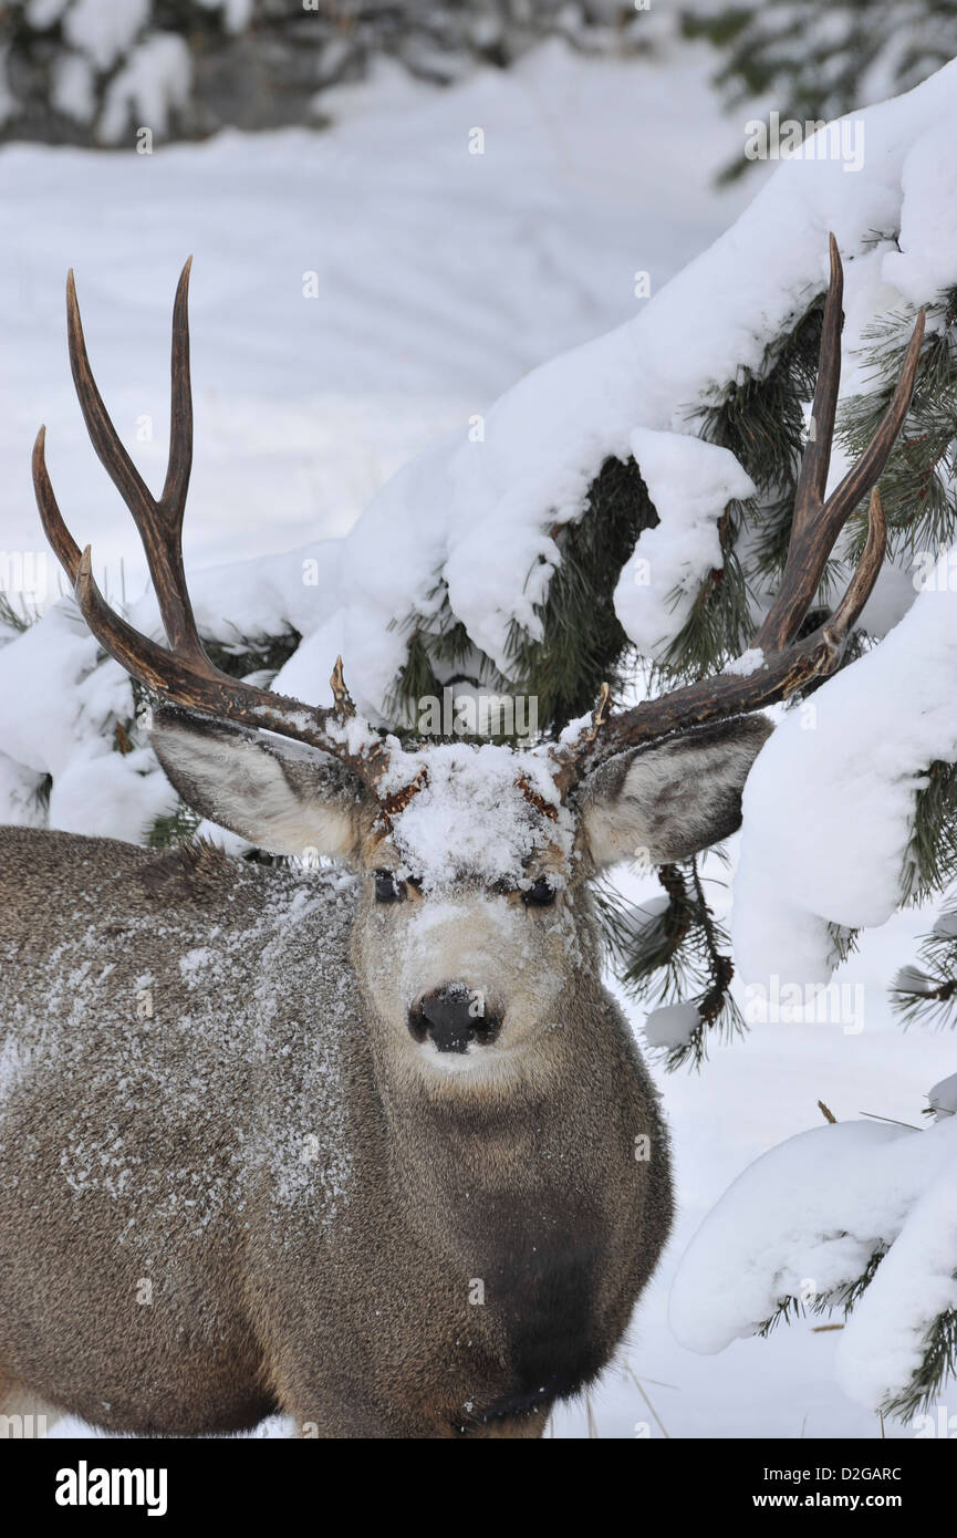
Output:
<path fill-rule="evenodd" d="M 611 758 L 582 791 L 594 869 L 634 858 L 688 860 L 734 834 L 748 771 L 772 731 L 766 717 L 742 715 Z"/>

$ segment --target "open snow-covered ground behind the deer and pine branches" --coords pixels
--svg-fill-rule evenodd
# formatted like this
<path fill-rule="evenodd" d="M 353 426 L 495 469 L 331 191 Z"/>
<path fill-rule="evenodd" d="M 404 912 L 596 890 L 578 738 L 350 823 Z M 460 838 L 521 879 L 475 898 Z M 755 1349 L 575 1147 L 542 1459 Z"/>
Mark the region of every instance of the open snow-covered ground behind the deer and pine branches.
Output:
<path fill-rule="evenodd" d="M 385 71 L 340 98 L 340 125 L 322 135 L 226 134 L 152 157 L 3 149 L 3 551 L 43 551 L 29 448 L 46 421 L 68 523 L 112 591 L 120 560 L 131 594 L 142 580 L 74 400 L 66 266 L 103 394 L 155 483 L 169 306 L 194 252 L 188 563 L 303 546 L 345 532 L 398 464 L 526 369 L 632 315 L 635 272 L 657 291 L 737 215 L 755 183 L 709 186 L 742 137 L 740 120 L 717 115 L 711 66 L 697 51 L 662 69 L 549 46 L 446 94 Z M 482 155 L 469 154 L 475 128 Z M 820 1124 L 819 1100 L 839 1118 L 920 1121 L 926 1089 L 954 1069 L 952 1038 L 905 1037 L 885 992 L 919 929 L 909 915 L 871 932 L 839 975 L 863 987 L 863 1030 L 755 1026 L 700 1075 L 662 1078 L 679 1224 L 622 1369 L 591 1397 L 600 1436 L 642 1423 L 662 1435 L 642 1390 L 671 1436 L 880 1435 L 835 1387 L 835 1335 L 814 1332 L 819 1320 L 695 1357 L 674 1340 L 666 1303 L 705 1213 L 768 1147 Z M 563 1409 L 554 1430 L 588 1435 L 586 1407 Z"/>

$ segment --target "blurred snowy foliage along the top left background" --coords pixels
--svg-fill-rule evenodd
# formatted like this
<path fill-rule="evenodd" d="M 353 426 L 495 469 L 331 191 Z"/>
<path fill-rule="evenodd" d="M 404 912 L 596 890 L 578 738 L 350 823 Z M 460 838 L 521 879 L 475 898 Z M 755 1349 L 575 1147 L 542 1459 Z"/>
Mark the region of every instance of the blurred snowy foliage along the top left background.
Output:
<path fill-rule="evenodd" d="M 446 85 L 546 37 L 645 46 L 625 0 L 8 0 L 0 26 L 0 137 L 98 145 L 317 123 L 380 58 Z"/>

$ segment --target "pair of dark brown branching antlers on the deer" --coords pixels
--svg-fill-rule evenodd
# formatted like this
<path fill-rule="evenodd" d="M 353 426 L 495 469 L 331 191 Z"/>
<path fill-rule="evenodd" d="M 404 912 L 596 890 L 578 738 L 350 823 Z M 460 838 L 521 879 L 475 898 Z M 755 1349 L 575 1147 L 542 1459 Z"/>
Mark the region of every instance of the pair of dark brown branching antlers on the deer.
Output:
<path fill-rule="evenodd" d="M 86 354 L 72 272 L 66 285 L 69 360 L 80 409 L 97 455 L 137 524 L 169 646 L 160 646 L 142 635 L 103 598 L 94 581 L 89 546 L 80 552 L 63 523 L 46 469 L 45 429 L 40 428 L 34 446 L 34 489 L 46 537 L 69 577 L 91 631 L 134 678 L 174 704 L 243 726 L 268 729 L 331 754 L 369 786 L 388 820 L 422 789 L 425 767 L 409 784 L 400 786 L 392 795 L 385 794 L 389 749 L 377 732 L 355 717 L 355 706 L 343 678 L 342 658 L 337 660 L 331 678 L 335 704 L 331 709 L 320 709 L 229 677 L 209 660 L 200 640 L 186 589 L 182 549 L 183 512 L 192 468 L 189 266 L 186 261 L 172 312 L 169 460 L 158 500 L 152 497 L 123 448 L 97 389 Z M 651 743 L 689 726 L 774 704 L 809 680 L 826 677 L 837 667 L 848 635 L 871 595 L 883 563 L 886 531 L 877 480 L 911 403 L 925 325 L 922 314 L 908 345 L 897 389 L 874 438 L 825 501 L 840 384 L 842 294 L 840 255 L 831 235 L 831 281 L 825 303 L 809 441 L 797 481 L 791 543 L 780 589 L 752 641 L 752 649 L 760 654 L 757 666 L 748 674 L 723 672 L 717 678 L 686 684 L 619 714 L 611 714 L 608 689 L 603 687 L 589 726 L 574 741 L 549 751 L 555 784 L 563 798 L 585 774 L 626 747 Z M 868 491 L 871 492 L 868 540 L 848 589 L 829 618 L 809 635 L 799 638 L 837 537 Z"/>

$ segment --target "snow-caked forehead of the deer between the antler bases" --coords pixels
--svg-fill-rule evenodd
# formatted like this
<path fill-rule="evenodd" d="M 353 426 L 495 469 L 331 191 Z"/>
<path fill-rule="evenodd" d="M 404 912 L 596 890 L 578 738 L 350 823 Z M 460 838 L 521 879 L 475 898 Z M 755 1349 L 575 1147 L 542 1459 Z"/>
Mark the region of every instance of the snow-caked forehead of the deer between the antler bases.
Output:
<path fill-rule="evenodd" d="M 537 760 L 506 747 L 448 746 L 418 761 L 425 783 L 392 817 L 382 854 L 423 891 L 455 880 L 517 884 L 532 866 L 566 864 L 572 818 Z"/>

